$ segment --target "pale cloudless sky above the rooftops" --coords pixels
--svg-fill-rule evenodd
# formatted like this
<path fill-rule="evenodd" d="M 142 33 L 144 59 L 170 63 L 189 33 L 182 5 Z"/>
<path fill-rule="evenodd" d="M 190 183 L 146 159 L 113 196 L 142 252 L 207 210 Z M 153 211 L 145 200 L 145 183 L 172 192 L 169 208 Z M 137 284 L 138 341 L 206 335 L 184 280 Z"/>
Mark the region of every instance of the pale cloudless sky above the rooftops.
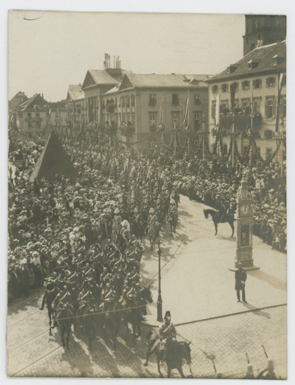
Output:
<path fill-rule="evenodd" d="M 65 99 L 104 53 L 134 73 L 213 75 L 242 57 L 244 32 L 242 14 L 9 11 L 8 98 Z"/>

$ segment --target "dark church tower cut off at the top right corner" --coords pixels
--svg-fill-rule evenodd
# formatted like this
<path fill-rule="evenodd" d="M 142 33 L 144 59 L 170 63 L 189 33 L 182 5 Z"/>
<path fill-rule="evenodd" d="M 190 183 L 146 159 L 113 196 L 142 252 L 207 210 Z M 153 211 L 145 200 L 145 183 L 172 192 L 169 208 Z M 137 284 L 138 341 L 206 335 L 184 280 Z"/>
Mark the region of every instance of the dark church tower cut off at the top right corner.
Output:
<path fill-rule="evenodd" d="M 245 15 L 243 55 L 247 55 L 257 46 L 285 40 L 286 20 L 286 16 L 282 15 Z"/>

